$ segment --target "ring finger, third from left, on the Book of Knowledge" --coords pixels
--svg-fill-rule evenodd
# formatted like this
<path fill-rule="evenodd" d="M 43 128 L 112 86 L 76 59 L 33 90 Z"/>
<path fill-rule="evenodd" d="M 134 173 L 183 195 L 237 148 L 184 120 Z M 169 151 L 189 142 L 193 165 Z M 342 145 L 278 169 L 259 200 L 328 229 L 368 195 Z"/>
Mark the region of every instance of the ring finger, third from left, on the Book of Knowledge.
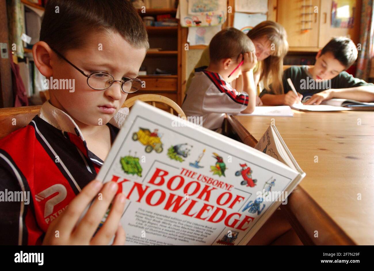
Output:
<path fill-rule="evenodd" d="M 102 225 L 101 229 L 97 232 L 95 237 L 92 238 L 92 241 L 98 245 L 106 245 L 113 238 L 114 234 L 117 231 L 118 223 L 125 209 L 125 195 L 118 194 L 112 208 L 110 210 L 109 216 Z"/>

